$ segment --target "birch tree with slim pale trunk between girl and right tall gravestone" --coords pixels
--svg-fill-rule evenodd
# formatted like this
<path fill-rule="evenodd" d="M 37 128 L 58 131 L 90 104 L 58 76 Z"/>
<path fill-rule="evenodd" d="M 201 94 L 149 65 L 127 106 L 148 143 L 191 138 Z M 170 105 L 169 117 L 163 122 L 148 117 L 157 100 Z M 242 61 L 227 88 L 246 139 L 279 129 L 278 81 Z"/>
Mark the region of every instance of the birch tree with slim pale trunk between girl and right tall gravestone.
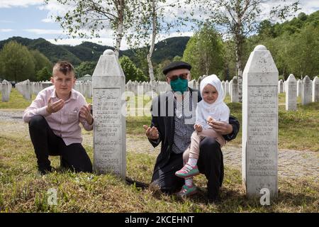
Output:
<path fill-rule="evenodd" d="M 276 2 L 281 2 L 281 4 Z M 187 4 L 192 6 L 193 12 L 196 12 L 193 13 L 194 15 L 203 15 L 193 20 L 216 23 L 220 31 L 224 33 L 224 37 L 234 41 L 240 101 L 242 99 L 242 58 L 245 38 L 257 31 L 262 18 L 284 19 L 298 10 L 298 1 L 286 4 L 286 0 L 187 0 Z M 263 7 L 269 5 L 272 6 L 266 15 Z"/>

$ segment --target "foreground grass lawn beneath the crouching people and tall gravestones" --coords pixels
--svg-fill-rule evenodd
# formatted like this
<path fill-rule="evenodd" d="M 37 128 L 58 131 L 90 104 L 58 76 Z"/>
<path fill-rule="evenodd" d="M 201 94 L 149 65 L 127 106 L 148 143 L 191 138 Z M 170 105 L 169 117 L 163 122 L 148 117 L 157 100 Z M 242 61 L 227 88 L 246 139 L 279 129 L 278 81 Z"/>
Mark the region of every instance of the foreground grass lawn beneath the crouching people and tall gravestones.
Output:
<path fill-rule="evenodd" d="M 86 147 L 92 158 L 92 148 Z M 220 204 L 206 204 L 206 179 L 195 177 L 200 192 L 189 199 L 167 196 L 156 188 L 140 190 L 113 175 L 93 175 L 59 170 L 59 158 L 51 157 L 58 171 L 41 177 L 36 171 L 33 147 L 26 138 L 0 136 L 1 212 L 319 212 L 316 179 L 279 177 L 279 197 L 271 206 L 247 199 L 240 171 L 225 166 Z M 150 182 L 156 154 L 128 150 L 127 175 Z M 49 189 L 57 190 L 57 206 L 49 206 Z"/>

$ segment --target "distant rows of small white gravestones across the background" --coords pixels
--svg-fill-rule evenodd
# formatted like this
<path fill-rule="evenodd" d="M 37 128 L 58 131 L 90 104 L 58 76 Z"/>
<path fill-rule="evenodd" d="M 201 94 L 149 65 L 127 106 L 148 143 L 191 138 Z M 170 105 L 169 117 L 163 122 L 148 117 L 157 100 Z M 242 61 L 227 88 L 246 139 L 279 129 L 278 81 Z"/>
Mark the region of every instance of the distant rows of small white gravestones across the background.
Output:
<path fill-rule="evenodd" d="M 205 76 L 203 76 L 205 77 Z M 193 89 L 199 89 L 199 84 L 201 83 L 201 79 L 203 77 L 199 77 L 196 81 L 195 79 L 189 82 L 189 87 Z M 3 85 L 2 85 L 3 84 Z M 2 96 L 2 101 L 9 101 L 11 84 L 4 80 L 1 84 L 1 88 L 4 87 L 2 92 L 4 95 Z M 10 84 L 10 85 L 9 85 Z M 225 95 L 230 95 L 231 102 L 238 102 L 238 80 L 237 77 L 234 77 L 230 82 L 226 80 L 225 82 L 221 82 L 223 89 L 225 91 Z M 38 94 L 45 87 L 50 87 L 52 85 L 51 82 L 30 82 L 28 79 L 23 82 L 19 82 L 16 84 L 16 89 L 23 95 L 24 99 L 30 100 L 31 94 Z M 10 89 L 9 89 L 10 87 Z M 79 91 L 81 94 L 86 96 L 87 98 L 92 97 L 92 82 L 91 81 L 77 81 L 74 84 L 74 89 Z M 169 84 L 167 82 L 155 82 L 155 92 L 160 94 L 161 92 L 166 92 L 170 89 Z M 133 92 L 134 95 L 145 94 L 147 92 L 151 92 L 150 82 L 131 82 L 128 81 L 125 84 L 125 91 Z M 9 93 L 8 93 L 9 92 Z M 303 80 L 298 79 L 296 81 L 293 74 L 289 75 L 289 78 L 283 82 L 279 80 L 278 82 L 278 92 L 286 93 L 286 110 L 296 110 L 297 106 L 297 96 L 301 96 L 301 104 L 306 105 L 311 101 L 315 102 L 319 100 L 319 79 L 315 77 L 313 81 L 310 80 L 308 76 L 304 77 Z"/>

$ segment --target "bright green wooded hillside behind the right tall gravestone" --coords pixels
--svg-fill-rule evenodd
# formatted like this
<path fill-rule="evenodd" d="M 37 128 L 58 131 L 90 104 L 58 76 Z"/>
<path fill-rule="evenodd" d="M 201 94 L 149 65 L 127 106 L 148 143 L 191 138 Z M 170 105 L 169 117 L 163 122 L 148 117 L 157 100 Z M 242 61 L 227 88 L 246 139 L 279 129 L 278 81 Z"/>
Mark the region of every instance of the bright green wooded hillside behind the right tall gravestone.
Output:
<path fill-rule="evenodd" d="M 272 24 L 263 21 L 259 34 L 247 39 L 245 57 L 258 44 L 265 45 L 285 79 L 289 74 L 297 78 L 319 74 L 319 11 L 298 17 L 284 23 Z M 270 31 L 270 32 L 269 32 Z"/>

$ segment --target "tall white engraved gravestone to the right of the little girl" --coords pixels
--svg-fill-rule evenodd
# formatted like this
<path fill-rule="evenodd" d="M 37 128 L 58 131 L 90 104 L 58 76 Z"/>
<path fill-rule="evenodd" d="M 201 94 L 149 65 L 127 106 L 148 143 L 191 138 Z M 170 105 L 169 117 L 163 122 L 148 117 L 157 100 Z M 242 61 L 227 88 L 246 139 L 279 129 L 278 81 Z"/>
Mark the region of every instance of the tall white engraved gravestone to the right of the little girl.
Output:
<path fill-rule="evenodd" d="M 242 183 L 247 196 L 278 194 L 278 70 L 264 45 L 242 74 Z"/>

